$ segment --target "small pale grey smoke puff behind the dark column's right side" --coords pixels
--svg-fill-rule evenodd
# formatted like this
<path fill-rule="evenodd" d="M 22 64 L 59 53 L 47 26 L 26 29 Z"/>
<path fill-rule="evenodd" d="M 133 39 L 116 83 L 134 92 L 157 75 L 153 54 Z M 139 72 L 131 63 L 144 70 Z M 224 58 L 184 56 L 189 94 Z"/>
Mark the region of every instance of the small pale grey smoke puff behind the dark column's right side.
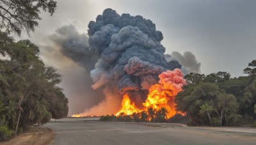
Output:
<path fill-rule="evenodd" d="M 184 52 L 183 55 L 179 52 L 172 52 L 172 55 L 166 54 L 165 58 L 168 61 L 168 68 L 170 70 L 181 67 L 181 71 L 185 75 L 189 72 L 200 73 L 201 64 L 191 52 Z"/>

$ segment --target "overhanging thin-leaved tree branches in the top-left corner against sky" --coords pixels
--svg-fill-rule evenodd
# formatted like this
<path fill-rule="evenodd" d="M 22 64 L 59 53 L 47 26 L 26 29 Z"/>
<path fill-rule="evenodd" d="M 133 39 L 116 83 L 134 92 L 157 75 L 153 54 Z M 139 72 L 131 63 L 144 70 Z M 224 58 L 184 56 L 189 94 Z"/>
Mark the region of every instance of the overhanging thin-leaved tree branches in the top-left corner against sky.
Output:
<path fill-rule="evenodd" d="M 34 31 L 38 25 L 40 10 L 48 11 L 51 15 L 56 10 L 53 0 L 0 0 L 0 28 L 6 32 L 21 34 Z"/>

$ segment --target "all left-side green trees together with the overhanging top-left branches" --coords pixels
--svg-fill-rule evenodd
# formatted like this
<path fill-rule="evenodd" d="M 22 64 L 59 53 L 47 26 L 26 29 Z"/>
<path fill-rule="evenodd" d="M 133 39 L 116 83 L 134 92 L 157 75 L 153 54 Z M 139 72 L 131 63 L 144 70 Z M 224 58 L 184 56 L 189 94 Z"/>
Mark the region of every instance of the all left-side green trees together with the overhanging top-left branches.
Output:
<path fill-rule="evenodd" d="M 68 99 L 57 85 L 61 75 L 40 59 L 40 49 L 29 40 L 10 35 L 34 31 L 40 10 L 52 15 L 56 2 L 0 1 L 0 140 L 31 125 L 68 113 Z"/>

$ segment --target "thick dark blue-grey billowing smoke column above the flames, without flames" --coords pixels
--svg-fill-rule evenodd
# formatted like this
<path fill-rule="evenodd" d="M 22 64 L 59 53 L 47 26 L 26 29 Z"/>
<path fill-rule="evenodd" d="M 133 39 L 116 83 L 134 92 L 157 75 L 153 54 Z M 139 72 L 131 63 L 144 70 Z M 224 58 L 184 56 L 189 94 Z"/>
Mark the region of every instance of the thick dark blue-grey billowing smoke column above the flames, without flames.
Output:
<path fill-rule="evenodd" d="M 156 25 L 141 16 L 106 9 L 88 27 L 90 50 L 100 57 L 91 71 L 93 88 L 111 85 L 121 95 L 128 92 L 136 94 L 134 100 L 145 99 L 149 86 L 168 69 L 163 34 Z"/>

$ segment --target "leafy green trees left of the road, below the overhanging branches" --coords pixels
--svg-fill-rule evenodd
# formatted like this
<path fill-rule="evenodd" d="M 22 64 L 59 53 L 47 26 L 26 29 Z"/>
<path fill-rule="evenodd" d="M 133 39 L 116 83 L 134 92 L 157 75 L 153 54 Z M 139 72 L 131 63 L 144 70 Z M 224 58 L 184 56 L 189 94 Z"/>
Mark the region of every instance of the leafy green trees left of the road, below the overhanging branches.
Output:
<path fill-rule="evenodd" d="M 0 39 L 0 138 L 67 116 L 68 99 L 56 86 L 61 75 L 45 66 L 38 46 L 29 40 L 15 43 L 4 32 Z"/>

